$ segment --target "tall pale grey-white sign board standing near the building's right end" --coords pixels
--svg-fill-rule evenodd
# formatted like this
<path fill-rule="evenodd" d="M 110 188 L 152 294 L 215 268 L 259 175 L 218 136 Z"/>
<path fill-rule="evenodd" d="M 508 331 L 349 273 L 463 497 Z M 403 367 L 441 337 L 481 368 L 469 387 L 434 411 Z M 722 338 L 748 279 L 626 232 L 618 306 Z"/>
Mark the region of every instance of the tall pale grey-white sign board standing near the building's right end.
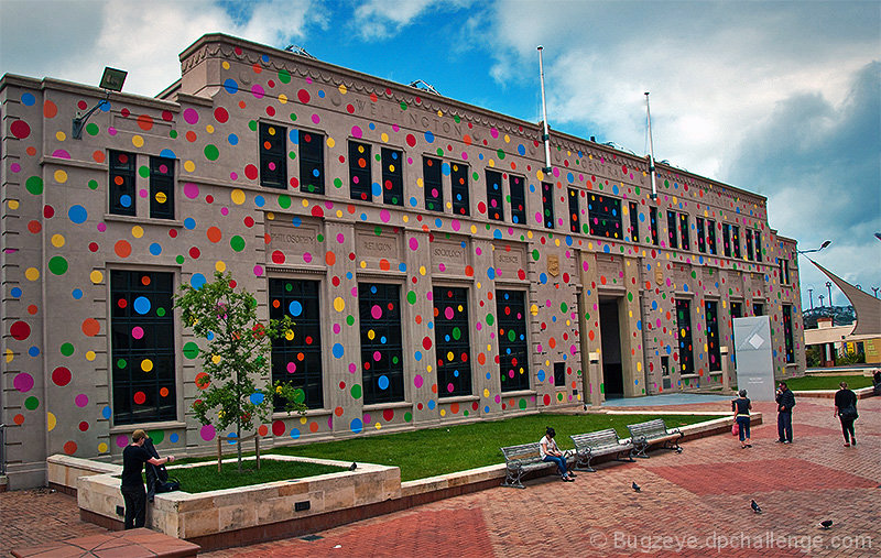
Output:
<path fill-rule="evenodd" d="M 737 389 L 752 401 L 774 401 L 774 346 L 768 316 L 735 318 Z"/>

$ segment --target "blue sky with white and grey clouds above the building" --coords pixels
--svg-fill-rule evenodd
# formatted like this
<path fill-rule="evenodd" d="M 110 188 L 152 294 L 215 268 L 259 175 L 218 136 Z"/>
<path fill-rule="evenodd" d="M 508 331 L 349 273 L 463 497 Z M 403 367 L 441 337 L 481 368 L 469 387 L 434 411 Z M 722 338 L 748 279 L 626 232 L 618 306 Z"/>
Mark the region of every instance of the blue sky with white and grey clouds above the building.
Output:
<path fill-rule="evenodd" d="M 648 153 L 768 197 L 769 221 L 881 287 L 881 0 L 0 0 L 0 74 L 154 96 L 222 32 Z M 826 277 L 800 258 L 803 307 Z M 881 292 L 879 292 L 881 296 Z M 833 286 L 836 305 L 847 304 Z M 826 294 L 825 305 L 829 304 Z"/>

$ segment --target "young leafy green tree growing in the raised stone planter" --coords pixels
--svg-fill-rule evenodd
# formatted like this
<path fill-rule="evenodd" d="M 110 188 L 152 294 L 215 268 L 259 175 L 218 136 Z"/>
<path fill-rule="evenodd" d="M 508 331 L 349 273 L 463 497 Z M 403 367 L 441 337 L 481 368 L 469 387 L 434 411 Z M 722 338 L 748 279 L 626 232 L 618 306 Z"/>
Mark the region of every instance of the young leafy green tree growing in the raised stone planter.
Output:
<path fill-rule="evenodd" d="M 257 299 L 247 291 L 236 291 L 231 275 L 215 273 L 215 281 L 199 288 L 182 285 L 175 295 L 184 325 L 205 339 L 199 347 L 204 374 L 196 378 L 203 390 L 193 403 L 193 414 L 203 425 L 218 431 L 236 425 L 239 472 L 241 472 L 241 433 L 254 426 L 254 418 L 268 420 L 275 401 L 289 413 L 303 414 L 303 392 L 290 382 L 272 383 L 270 353 L 272 339 L 293 336 L 290 316 L 261 324 Z"/>

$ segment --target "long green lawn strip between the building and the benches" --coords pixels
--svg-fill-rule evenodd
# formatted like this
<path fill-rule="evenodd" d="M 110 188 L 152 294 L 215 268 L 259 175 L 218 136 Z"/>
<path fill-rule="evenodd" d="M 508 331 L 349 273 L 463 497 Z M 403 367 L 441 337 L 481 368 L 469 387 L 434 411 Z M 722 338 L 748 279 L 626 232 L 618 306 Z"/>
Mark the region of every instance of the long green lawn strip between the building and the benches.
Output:
<path fill-rule="evenodd" d="M 401 480 L 411 481 L 503 463 L 501 447 L 539 441 L 544 435 L 546 426 L 554 427 L 557 433 L 557 445 L 561 449 L 567 449 L 572 448 L 569 435 L 614 428 L 619 436 L 628 437 L 627 425 L 653 418 L 657 418 L 657 416 L 542 414 L 507 420 L 485 420 L 449 428 L 411 430 L 348 440 L 289 446 L 274 449 L 272 452 L 396 466 L 401 468 Z M 664 416 L 670 428 L 713 418 L 717 417 Z"/>

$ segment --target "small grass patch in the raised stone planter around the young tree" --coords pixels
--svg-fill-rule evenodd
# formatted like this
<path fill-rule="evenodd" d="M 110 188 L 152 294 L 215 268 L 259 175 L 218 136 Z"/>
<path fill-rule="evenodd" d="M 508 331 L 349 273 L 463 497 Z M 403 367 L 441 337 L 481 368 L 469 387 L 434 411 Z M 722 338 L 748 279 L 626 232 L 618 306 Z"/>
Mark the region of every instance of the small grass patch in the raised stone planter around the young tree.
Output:
<path fill-rule="evenodd" d="M 183 461 L 183 460 L 182 460 Z M 242 462 L 242 472 L 239 473 L 236 462 L 224 463 L 224 470 L 217 472 L 217 460 L 205 467 L 184 469 L 168 469 L 168 475 L 181 481 L 181 490 L 196 494 L 209 490 L 232 489 L 260 484 L 263 482 L 283 481 L 287 479 L 302 479 L 316 474 L 335 473 L 346 469 L 317 463 L 302 463 L 278 461 L 275 459 L 261 459 L 260 470 L 255 471 L 254 461 Z"/>

